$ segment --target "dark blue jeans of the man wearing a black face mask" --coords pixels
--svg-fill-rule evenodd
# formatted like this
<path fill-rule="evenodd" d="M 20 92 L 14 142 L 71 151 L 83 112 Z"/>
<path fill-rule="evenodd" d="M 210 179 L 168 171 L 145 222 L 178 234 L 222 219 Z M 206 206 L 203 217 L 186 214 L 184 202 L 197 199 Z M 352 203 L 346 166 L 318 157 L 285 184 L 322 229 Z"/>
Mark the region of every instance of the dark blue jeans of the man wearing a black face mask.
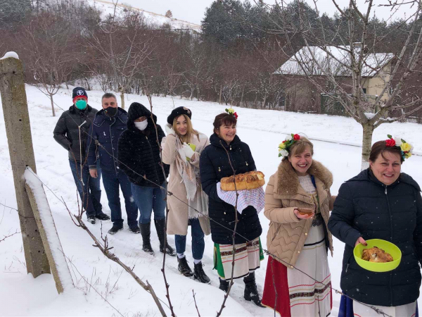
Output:
<path fill-rule="evenodd" d="M 120 185 L 124 197 L 124 206 L 126 206 L 127 224 L 129 227 L 137 225 L 138 206 L 136 206 L 134 198 L 132 197 L 131 182 L 129 181 L 129 178 L 127 178 L 127 175 L 121 170 L 117 170 L 116 174 L 115 170 L 110 171 L 105 168 L 103 168 L 102 173 L 103 185 L 104 189 L 106 189 L 108 206 L 111 211 L 111 221 L 123 225 L 122 208 L 120 206 Z"/>

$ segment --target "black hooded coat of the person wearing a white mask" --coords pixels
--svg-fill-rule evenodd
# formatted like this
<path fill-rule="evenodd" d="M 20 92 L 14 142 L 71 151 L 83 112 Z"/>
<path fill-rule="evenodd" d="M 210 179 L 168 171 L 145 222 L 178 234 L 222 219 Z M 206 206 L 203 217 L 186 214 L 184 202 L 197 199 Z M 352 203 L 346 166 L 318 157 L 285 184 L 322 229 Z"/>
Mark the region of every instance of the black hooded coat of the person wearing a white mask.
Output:
<path fill-rule="evenodd" d="M 134 120 L 146 116 L 148 125 L 141 131 L 134 125 Z M 154 122 L 157 123 L 157 117 L 153 115 Z M 127 130 L 120 135 L 117 146 L 117 159 L 119 168 L 129 176 L 131 182 L 135 185 L 146 187 L 158 187 L 162 185 L 165 178 L 169 175 L 170 166 L 164 164 L 165 178 L 162 175 L 160 166 L 160 147 L 161 140 L 165 137 L 160 125 L 157 125 L 157 134 L 155 132 L 151 111 L 145 106 L 134 102 L 130 105 L 127 112 Z M 146 175 L 148 180 L 143 179 Z"/>

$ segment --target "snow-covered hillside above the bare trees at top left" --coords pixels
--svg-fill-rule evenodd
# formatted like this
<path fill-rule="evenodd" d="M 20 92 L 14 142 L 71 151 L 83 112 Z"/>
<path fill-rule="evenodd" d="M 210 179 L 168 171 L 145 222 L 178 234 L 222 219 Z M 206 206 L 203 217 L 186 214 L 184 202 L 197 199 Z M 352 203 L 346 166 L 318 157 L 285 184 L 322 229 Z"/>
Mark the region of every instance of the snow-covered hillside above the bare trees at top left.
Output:
<path fill-rule="evenodd" d="M 96 8 L 100 9 L 104 13 L 113 14 L 114 11 L 114 4 L 112 1 L 105 1 L 105 0 L 89 0 L 89 3 L 96 6 Z M 143 10 L 142 8 L 138 8 L 136 6 L 129 6 L 127 4 L 118 3 L 117 10 L 124 10 L 124 9 L 132 9 L 134 11 L 140 11 L 143 13 L 143 16 L 149 23 L 154 23 L 158 25 L 162 25 L 167 23 L 172 26 L 173 29 L 189 29 L 200 32 L 201 26 L 195 23 L 191 23 L 184 20 L 178 20 L 177 18 L 167 18 L 165 15 L 153 13 L 151 11 Z"/>

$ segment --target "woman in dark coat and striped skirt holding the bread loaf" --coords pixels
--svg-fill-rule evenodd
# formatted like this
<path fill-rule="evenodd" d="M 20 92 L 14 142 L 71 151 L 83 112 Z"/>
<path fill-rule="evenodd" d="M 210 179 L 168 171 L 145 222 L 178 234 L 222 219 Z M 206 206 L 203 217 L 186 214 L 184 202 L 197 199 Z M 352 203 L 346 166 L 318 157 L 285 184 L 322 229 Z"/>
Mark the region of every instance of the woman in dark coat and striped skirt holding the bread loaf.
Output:
<path fill-rule="evenodd" d="M 229 288 L 231 279 L 231 259 L 233 249 L 233 231 L 235 225 L 235 209 L 220 197 L 219 181 L 233 175 L 231 164 L 236 174 L 256 170 L 248 144 L 241 142 L 236 135 L 236 116 L 231 113 L 221 113 L 215 117 L 214 134 L 208 145 L 200 155 L 200 180 L 203 191 L 208 195 L 208 212 L 211 225 L 211 237 L 215 242 L 215 268 L 219 274 L 220 289 L 225 292 Z M 230 161 L 229 161 L 229 156 Z M 231 163 L 231 164 L 230 164 Z M 245 277 L 245 299 L 252 300 L 258 306 L 261 301 L 255 283 L 255 269 L 260 267 L 263 259 L 259 237 L 262 233 L 257 210 L 248 206 L 238 213 L 236 227 L 236 265 L 234 278 Z M 245 240 L 246 238 L 246 240 Z M 248 256 L 255 256 L 254 260 Z M 224 263 L 224 265 L 222 264 Z"/>

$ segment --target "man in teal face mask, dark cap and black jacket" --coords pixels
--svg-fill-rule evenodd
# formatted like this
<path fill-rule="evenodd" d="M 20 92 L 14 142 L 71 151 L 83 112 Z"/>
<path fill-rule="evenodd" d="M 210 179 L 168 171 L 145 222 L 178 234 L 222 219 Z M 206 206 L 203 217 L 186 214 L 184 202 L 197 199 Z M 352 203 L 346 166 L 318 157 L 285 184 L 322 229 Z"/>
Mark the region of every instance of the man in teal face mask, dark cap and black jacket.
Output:
<path fill-rule="evenodd" d="M 53 132 L 54 139 L 69 152 L 70 170 L 82 205 L 87 211 L 88 221 L 95 223 L 95 218 L 108 220 L 110 217 L 103 213 L 100 203 L 101 170 L 98 168 L 98 178 L 90 178 L 86 162 L 85 149 L 90 142 L 88 130 L 97 110 L 87 104 L 88 95 L 82 87 L 73 89 L 72 101 L 73 105 L 58 119 Z"/>

